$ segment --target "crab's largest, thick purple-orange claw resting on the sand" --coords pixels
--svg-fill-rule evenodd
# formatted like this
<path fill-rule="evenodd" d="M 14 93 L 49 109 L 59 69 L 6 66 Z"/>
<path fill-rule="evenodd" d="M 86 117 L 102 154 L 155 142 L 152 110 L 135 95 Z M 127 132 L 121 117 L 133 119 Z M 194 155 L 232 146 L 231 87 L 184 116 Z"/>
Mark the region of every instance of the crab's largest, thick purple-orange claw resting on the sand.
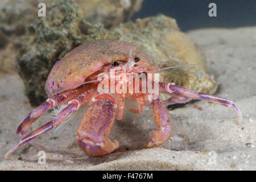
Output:
<path fill-rule="evenodd" d="M 117 150 L 117 140 L 112 142 L 108 138 L 116 107 L 114 98 L 108 94 L 93 98 L 76 133 L 77 144 L 86 154 L 101 156 Z"/>

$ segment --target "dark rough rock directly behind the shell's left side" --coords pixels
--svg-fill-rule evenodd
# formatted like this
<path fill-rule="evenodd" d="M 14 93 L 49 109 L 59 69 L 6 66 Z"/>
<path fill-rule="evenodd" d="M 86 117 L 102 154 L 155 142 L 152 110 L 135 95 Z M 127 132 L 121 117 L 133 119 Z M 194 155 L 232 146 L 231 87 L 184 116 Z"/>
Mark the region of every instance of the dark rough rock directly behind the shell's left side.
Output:
<path fill-rule="evenodd" d="M 86 40 L 98 38 L 105 31 L 101 24 L 92 26 L 77 11 L 78 5 L 69 1 L 48 8 L 46 17 L 28 26 L 19 50 L 19 75 L 26 86 L 32 105 L 46 98 L 44 83 L 57 60 Z"/>

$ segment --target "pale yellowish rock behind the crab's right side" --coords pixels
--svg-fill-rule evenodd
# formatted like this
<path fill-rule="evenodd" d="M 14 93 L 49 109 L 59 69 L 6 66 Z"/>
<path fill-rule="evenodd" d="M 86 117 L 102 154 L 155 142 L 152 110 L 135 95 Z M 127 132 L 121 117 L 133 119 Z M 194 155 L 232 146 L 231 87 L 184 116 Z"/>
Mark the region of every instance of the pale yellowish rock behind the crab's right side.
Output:
<path fill-rule="evenodd" d="M 118 34 L 115 35 L 117 38 L 133 42 L 144 49 L 159 68 L 205 63 L 205 57 L 196 44 L 179 30 L 176 20 L 168 16 L 137 19 L 135 23 L 114 27 L 112 32 Z M 205 65 L 168 69 L 160 72 L 159 80 L 212 94 L 217 86 L 206 71 Z"/>

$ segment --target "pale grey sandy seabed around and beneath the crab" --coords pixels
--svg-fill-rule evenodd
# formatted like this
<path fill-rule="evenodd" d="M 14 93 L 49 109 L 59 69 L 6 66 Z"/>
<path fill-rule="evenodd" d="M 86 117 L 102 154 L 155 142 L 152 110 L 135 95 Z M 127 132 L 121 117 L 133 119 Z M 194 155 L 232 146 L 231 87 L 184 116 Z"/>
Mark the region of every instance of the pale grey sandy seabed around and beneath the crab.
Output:
<path fill-rule="evenodd" d="M 110 139 L 119 141 L 118 150 L 93 157 L 76 145 L 80 121 L 71 118 L 60 129 L 36 139 L 51 148 L 46 164 L 38 164 L 42 149 L 31 144 L 6 160 L 5 153 L 19 140 L 15 129 L 32 107 L 20 77 L 0 73 L 0 170 L 255 170 L 256 27 L 201 29 L 188 35 L 208 63 L 216 63 L 208 67 L 219 85 L 216 95 L 237 104 L 244 118 L 241 125 L 232 109 L 198 101 L 171 110 L 171 138 L 161 148 L 145 149 L 156 129 L 151 110 L 141 115 L 126 113 L 110 134 Z M 44 114 L 29 131 L 51 117 Z"/>

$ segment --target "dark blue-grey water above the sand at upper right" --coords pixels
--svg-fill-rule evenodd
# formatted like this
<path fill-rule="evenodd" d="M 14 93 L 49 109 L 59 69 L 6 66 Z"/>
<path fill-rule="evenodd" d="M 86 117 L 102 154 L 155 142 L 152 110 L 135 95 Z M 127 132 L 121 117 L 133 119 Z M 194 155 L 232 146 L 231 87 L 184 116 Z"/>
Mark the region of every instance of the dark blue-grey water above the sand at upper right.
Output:
<path fill-rule="evenodd" d="M 208 15 L 212 2 L 217 5 L 217 17 Z M 256 0 L 144 0 L 133 20 L 159 13 L 175 18 L 182 31 L 256 26 Z"/>

